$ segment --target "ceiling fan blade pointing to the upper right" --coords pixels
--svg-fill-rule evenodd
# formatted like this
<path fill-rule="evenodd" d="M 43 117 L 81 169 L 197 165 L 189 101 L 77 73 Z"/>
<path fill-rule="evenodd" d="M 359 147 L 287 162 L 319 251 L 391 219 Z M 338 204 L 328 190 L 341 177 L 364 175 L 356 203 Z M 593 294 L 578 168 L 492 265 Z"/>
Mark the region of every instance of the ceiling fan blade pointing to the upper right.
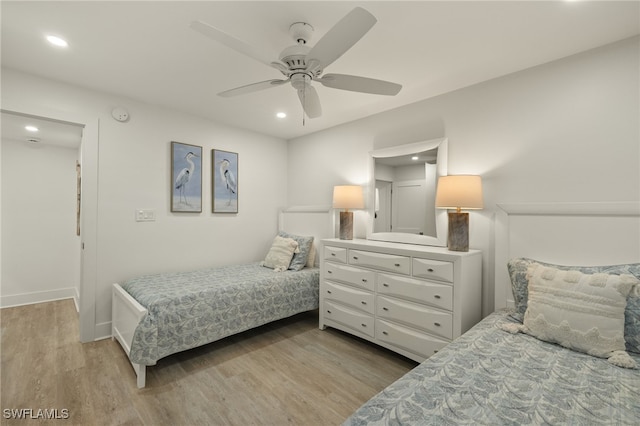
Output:
<path fill-rule="evenodd" d="M 328 67 L 356 44 L 376 22 L 375 16 L 356 7 L 318 40 L 307 54 L 308 60 L 316 59 L 323 68 Z"/>

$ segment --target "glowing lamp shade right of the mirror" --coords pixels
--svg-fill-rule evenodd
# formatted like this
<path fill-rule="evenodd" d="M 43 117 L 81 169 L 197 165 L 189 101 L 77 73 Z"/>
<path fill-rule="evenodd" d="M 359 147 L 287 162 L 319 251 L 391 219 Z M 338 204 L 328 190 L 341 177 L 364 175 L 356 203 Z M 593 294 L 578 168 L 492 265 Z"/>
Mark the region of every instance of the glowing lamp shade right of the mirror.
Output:
<path fill-rule="evenodd" d="M 438 179 L 436 207 L 441 209 L 481 209 L 482 179 L 480 176 L 442 176 Z"/>

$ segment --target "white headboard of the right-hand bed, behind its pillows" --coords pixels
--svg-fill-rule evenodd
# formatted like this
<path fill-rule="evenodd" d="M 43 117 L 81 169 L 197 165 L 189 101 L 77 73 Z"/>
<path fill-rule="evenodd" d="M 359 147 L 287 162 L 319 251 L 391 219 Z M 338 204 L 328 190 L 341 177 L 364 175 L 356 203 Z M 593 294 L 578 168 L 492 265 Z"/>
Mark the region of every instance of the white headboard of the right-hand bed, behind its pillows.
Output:
<path fill-rule="evenodd" d="M 559 265 L 640 262 L 640 202 L 504 203 L 495 221 L 495 309 L 513 307 L 507 262 Z"/>

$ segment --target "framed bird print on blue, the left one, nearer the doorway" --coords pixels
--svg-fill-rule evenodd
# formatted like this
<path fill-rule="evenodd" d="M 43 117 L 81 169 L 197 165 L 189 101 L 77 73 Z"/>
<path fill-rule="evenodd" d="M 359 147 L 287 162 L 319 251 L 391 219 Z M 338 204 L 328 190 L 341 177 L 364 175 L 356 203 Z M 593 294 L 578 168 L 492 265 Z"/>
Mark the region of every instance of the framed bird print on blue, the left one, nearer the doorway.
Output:
<path fill-rule="evenodd" d="M 202 147 L 171 142 L 171 211 L 202 212 Z"/>

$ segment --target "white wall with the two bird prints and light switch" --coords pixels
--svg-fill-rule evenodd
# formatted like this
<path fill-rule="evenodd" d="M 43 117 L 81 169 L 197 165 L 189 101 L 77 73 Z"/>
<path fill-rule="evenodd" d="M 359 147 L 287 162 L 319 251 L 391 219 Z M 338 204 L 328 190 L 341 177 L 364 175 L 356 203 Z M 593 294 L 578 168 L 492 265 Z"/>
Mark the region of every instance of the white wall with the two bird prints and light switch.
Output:
<path fill-rule="evenodd" d="M 115 106 L 128 109 L 128 122 L 111 118 Z M 277 232 L 278 209 L 286 206 L 287 196 L 284 140 L 6 69 L 2 107 L 100 121 L 96 337 L 110 334 L 112 283 L 145 273 L 257 261 Z M 171 141 L 203 147 L 200 214 L 169 211 Z M 237 215 L 211 213 L 213 148 L 238 153 Z M 138 208 L 154 210 L 156 221 L 135 222 Z M 9 250 L 4 246 L 3 255 Z"/>

